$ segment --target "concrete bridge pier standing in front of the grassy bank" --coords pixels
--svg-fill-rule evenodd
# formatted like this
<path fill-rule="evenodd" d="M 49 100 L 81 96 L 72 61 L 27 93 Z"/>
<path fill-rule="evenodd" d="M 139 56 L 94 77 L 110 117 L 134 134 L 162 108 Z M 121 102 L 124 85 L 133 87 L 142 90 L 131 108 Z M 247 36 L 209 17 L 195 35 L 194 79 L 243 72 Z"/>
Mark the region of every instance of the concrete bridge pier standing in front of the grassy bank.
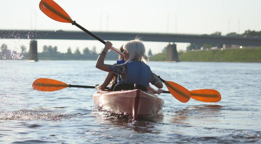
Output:
<path fill-rule="evenodd" d="M 167 53 L 166 53 L 166 61 L 179 61 L 178 52 L 177 52 L 177 45 L 176 44 L 168 44 L 167 46 Z"/>

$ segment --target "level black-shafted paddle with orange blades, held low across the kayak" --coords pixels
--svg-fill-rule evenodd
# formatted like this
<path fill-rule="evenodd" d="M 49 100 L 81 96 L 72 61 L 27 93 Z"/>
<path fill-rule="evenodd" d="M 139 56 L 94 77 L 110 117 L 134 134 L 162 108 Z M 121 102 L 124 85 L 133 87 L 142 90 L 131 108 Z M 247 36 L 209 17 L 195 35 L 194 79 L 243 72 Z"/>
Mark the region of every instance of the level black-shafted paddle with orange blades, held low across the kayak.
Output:
<path fill-rule="evenodd" d="M 53 79 L 47 79 L 47 78 L 39 78 L 36 79 L 33 82 L 32 85 L 33 89 L 39 90 L 39 91 L 56 91 L 61 90 L 67 87 L 76 87 L 76 88 L 92 88 L 94 89 L 95 86 L 86 86 L 86 85 L 68 85 L 64 82 L 53 80 Z M 109 87 L 106 87 L 105 89 L 110 89 Z M 203 102 L 218 102 L 221 99 L 221 95 L 216 90 L 192 90 L 190 91 L 192 93 L 192 96 L 197 97 L 195 100 L 203 101 Z M 169 93 L 169 91 L 164 91 L 163 93 Z"/>

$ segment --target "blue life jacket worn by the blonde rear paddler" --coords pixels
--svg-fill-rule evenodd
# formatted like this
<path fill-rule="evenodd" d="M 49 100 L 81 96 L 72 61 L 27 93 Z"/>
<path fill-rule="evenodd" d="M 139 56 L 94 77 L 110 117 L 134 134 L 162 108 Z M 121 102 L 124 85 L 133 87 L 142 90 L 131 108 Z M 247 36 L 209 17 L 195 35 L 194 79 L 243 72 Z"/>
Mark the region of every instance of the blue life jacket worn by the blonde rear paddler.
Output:
<path fill-rule="evenodd" d="M 147 88 L 151 78 L 150 71 L 150 67 L 144 62 L 128 61 L 126 80 L 118 81 L 117 84 L 132 83 L 143 85 Z"/>

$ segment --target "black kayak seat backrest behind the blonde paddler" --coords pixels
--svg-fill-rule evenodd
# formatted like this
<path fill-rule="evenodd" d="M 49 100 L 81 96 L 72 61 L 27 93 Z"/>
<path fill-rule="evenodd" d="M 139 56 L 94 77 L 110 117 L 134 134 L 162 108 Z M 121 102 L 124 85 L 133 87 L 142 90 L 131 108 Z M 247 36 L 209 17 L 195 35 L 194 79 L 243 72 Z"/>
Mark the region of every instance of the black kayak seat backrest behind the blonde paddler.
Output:
<path fill-rule="evenodd" d="M 139 89 L 139 90 L 147 92 L 147 88 L 145 86 L 139 85 L 139 84 L 131 84 L 131 83 L 117 84 L 114 86 L 113 91 L 135 90 L 135 89 Z"/>

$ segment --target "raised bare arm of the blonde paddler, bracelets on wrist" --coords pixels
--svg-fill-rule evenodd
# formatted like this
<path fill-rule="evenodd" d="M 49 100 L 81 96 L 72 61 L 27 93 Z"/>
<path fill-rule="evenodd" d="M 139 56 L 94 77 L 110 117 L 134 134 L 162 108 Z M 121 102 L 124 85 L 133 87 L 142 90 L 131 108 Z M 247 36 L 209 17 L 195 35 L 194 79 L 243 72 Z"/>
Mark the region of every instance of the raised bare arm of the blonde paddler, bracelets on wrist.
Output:
<path fill-rule="evenodd" d="M 110 65 L 104 64 L 104 59 L 106 57 L 108 50 L 111 48 L 111 46 L 112 46 L 111 42 L 107 41 L 105 43 L 105 46 L 104 46 L 102 52 L 99 54 L 98 59 L 96 61 L 96 68 L 109 72 Z"/>

